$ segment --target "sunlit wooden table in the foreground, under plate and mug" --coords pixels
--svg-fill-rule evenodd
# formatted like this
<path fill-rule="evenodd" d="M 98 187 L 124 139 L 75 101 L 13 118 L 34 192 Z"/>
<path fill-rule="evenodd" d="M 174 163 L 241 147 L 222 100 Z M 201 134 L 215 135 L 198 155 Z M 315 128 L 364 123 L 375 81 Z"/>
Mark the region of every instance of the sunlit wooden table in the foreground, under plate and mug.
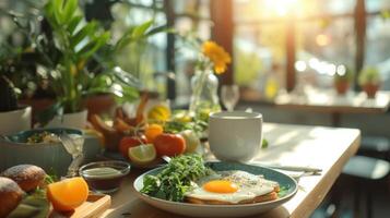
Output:
<path fill-rule="evenodd" d="M 265 123 L 263 135 L 270 146 L 262 149 L 255 161 L 279 162 L 317 167 L 321 175 L 300 178 L 297 194 L 283 206 L 253 217 L 308 217 L 321 203 L 345 162 L 356 153 L 361 132 L 353 129 L 333 129 Z M 132 182 L 142 171 L 132 173 L 113 195 L 113 205 L 103 217 L 128 218 L 179 218 L 154 208 L 137 198 Z M 126 214 L 123 216 L 122 214 Z"/>

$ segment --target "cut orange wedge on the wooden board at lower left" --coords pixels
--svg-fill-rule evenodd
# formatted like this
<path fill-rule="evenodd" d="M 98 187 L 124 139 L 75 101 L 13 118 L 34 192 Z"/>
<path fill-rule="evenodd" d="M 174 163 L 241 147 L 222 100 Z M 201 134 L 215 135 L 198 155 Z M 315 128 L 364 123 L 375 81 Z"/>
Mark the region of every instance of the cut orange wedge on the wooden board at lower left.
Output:
<path fill-rule="evenodd" d="M 66 179 L 47 186 L 47 198 L 57 211 L 71 211 L 88 197 L 88 185 L 81 177 Z"/>

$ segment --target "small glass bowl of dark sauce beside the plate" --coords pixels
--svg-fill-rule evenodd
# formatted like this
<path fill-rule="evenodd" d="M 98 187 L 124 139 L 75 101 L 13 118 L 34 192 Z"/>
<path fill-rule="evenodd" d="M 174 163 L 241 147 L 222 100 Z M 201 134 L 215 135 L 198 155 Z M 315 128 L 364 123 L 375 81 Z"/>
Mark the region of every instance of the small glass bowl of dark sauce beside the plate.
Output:
<path fill-rule="evenodd" d="M 118 191 L 120 183 L 129 172 L 130 165 L 118 160 L 91 162 L 82 166 L 79 170 L 80 175 L 93 191 L 105 194 Z"/>

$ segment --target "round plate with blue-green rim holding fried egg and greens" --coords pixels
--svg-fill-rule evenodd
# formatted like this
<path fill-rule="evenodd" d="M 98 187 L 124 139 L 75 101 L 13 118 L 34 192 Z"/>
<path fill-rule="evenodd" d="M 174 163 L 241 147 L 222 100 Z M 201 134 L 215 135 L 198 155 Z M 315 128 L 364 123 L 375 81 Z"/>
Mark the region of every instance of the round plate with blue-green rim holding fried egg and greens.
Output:
<path fill-rule="evenodd" d="M 297 192 L 298 185 L 293 178 L 269 168 L 243 165 L 243 164 L 233 164 L 233 162 L 209 162 L 209 165 L 211 166 L 212 169 L 216 171 L 243 170 L 253 174 L 263 174 L 265 179 L 279 182 L 281 187 L 285 189 L 285 195 L 283 195 L 282 197 L 275 201 L 256 203 L 256 204 L 198 205 L 198 204 L 159 199 L 140 193 L 140 190 L 143 187 L 143 178 L 146 174 L 156 174 L 164 167 L 156 168 L 141 174 L 135 179 L 133 186 L 137 191 L 138 196 L 142 201 L 146 202 L 147 204 L 173 214 L 191 216 L 191 217 L 244 217 L 244 216 L 261 214 L 272 208 L 281 206 L 283 203 L 291 199 Z"/>

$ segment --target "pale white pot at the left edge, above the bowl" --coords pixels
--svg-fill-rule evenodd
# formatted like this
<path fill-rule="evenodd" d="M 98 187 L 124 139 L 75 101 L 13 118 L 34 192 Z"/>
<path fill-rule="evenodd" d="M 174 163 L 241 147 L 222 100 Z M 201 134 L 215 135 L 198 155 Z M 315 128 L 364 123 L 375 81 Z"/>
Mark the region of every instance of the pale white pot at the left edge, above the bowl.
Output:
<path fill-rule="evenodd" d="M 17 110 L 0 112 L 0 134 L 11 134 L 32 126 L 32 107 L 22 106 Z"/>

